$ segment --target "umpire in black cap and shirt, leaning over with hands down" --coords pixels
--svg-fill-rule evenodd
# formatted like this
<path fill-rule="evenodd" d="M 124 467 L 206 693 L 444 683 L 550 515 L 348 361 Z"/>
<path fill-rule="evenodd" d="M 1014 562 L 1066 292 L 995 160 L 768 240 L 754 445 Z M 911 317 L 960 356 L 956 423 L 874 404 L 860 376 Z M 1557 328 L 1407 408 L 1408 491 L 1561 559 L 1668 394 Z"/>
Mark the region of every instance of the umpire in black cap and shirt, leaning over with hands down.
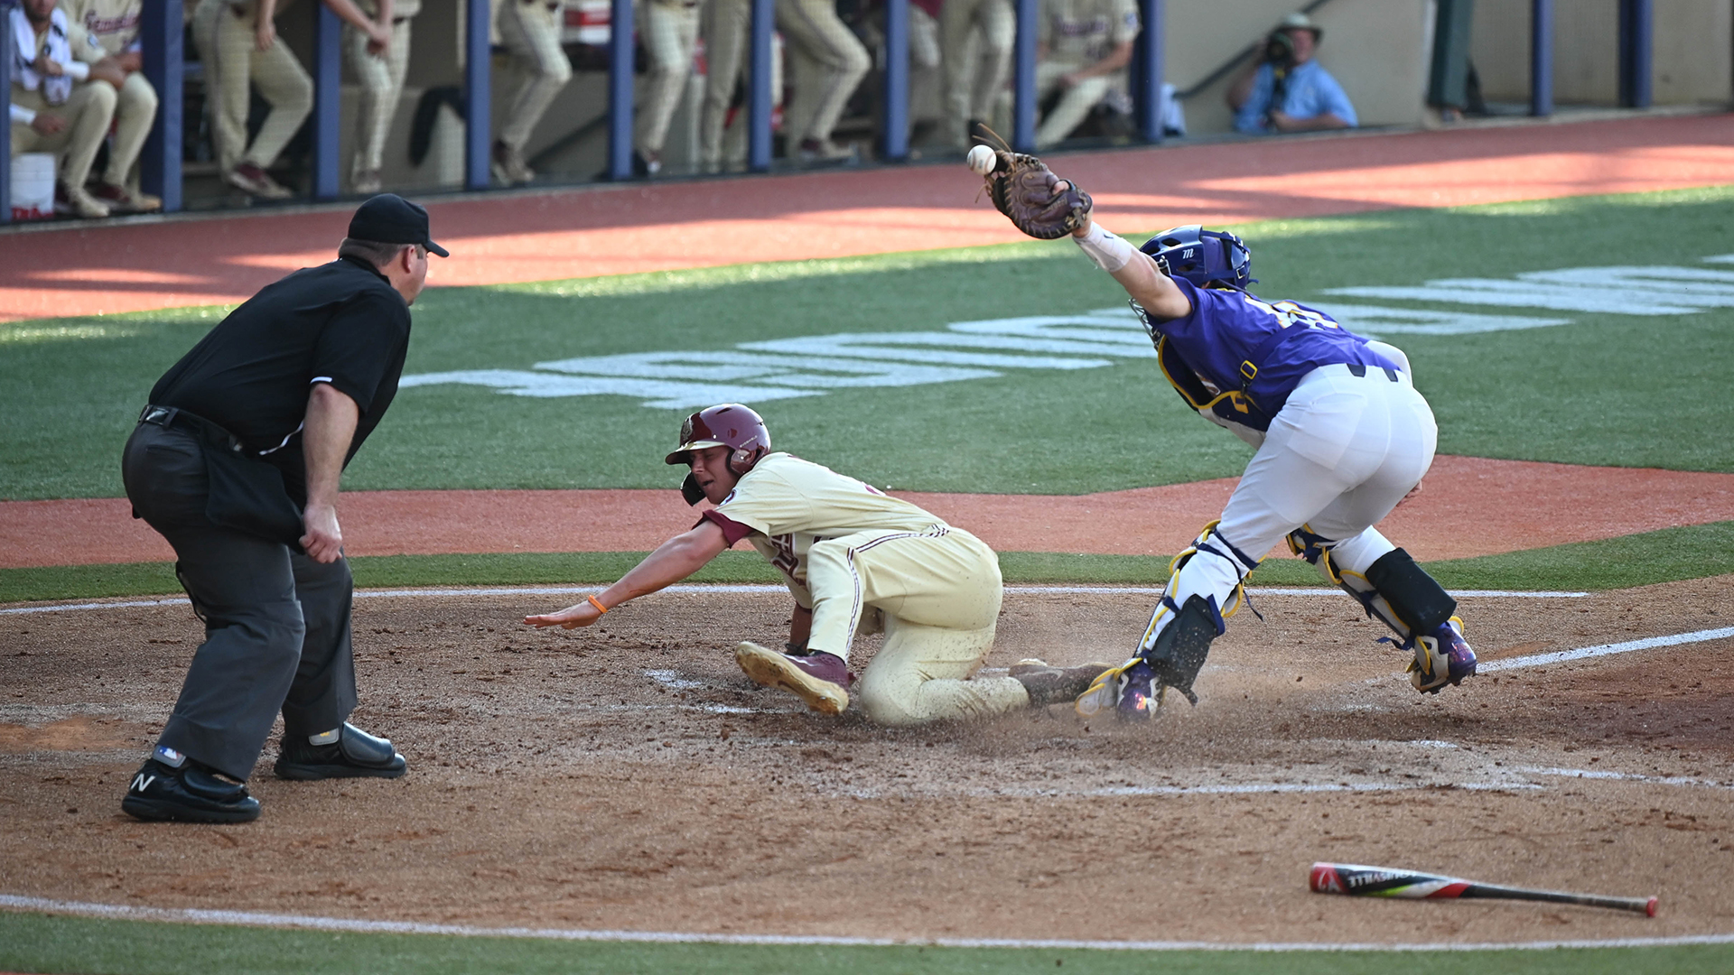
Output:
<path fill-rule="evenodd" d="M 336 494 L 397 394 L 430 252 L 447 257 L 427 210 L 375 196 L 336 260 L 253 295 L 151 389 L 121 474 L 134 517 L 175 548 L 205 644 L 125 812 L 258 819 L 244 782 L 279 710 L 279 777 L 404 774 L 390 741 L 345 720 L 354 581 Z"/>

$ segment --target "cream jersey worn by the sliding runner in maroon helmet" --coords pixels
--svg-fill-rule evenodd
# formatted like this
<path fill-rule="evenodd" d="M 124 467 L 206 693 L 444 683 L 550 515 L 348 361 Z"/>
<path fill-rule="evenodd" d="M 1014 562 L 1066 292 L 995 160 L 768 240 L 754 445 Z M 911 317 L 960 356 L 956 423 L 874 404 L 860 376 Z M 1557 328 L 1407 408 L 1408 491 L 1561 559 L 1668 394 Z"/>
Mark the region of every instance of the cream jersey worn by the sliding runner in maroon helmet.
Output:
<path fill-rule="evenodd" d="M 787 453 L 761 458 L 721 505 L 701 515 L 716 522 L 730 545 L 742 538 L 789 581 L 794 600 L 812 609 L 806 552 L 815 541 L 858 531 L 921 533 L 943 519 L 893 498 L 872 484 Z"/>

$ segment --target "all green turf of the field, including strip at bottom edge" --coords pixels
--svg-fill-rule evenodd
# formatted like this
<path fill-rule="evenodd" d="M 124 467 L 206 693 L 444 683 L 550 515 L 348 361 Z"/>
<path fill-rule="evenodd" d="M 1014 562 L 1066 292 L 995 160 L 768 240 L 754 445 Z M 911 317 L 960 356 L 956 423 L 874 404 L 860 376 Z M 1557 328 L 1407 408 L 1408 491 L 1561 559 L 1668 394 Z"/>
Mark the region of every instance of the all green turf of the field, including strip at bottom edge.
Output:
<path fill-rule="evenodd" d="M 1131 227 L 1125 227 L 1127 231 Z M 1151 227 L 1144 227 L 1150 231 Z M 1734 252 L 1734 187 L 1410 210 L 1236 227 L 1255 291 L 1330 307 L 1328 288 L 1510 279 L 1568 267 Z M 1727 363 L 1734 309 L 1644 314 L 1476 307 L 1571 324 L 1391 337 L 1439 418 L 1439 451 L 1578 465 L 1734 472 Z M 1066 243 L 742 265 L 494 288 L 437 288 L 416 307 L 406 373 L 531 370 L 576 356 L 728 352 L 834 333 L 1077 316 L 1122 304 Z M 1342 304 L 1354 304 L 1346 300 Z M 1370 302 L 1368 302 L 1370 304 Z M 1450 304 L 1382 300 L 1448 311 Z M 147 390 L 222 309 L 0 324 L 0 500 L 120 496 L 120 448 Z M 524 397 L 475 385 L 404 389 L 347 489 L 673 488 L 662 465 L 688 409 L 642 396 Z M 1248 449 L 1191 415 L 1148 359 L 905 387 L 831 389 L 761 404 L 780 449 L 914 491 L 1092 493 L 1235 475 Z M 1600 590 L 1734 571 L 1734 522 L 1606 543 L 1434 562 L 1453 588 Z M 607 581 L 638 553 L 355 559 L 362 586 Z M 1013 583 L 1138 583 L 1164 559 L 1002 555 Z M 747 553 L 701 579 L 773 581 Z M 1257 583 L 1316 585 L 1273 560 Z M 177 592 L 166 564 L 0 571 L 0 602 Z M 17 972 L 1727 972 L 1729 946 L 1486 952 L 1118 952 L 551 942 L 357 935 L 83 919 L 0 911 Z"/>

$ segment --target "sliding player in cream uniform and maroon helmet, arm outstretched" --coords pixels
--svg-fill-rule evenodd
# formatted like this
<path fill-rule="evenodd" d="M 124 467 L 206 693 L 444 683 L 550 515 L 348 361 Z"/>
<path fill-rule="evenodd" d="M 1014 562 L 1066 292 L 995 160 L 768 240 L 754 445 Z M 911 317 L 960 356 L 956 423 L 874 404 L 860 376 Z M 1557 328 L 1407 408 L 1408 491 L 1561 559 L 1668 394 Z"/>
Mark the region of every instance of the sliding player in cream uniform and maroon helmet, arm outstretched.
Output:
<path fill-rule="evenodd" d="M 742 642 L 735 659 L 756 684 L 782 687 L 838 715 L 850 687 L 883 725 L 995 715 L 1066 701 L 1108 668 L 1023 661 L 1009 677 L 969 678 L 994 647 L 1001 578 L 994 550 L 968 531 L 787 453 L 772 453 L 758 413 L 711 406 L 687 418 L 664 458 L 692 467 L 687 503 L 711 501 L 685 534 L 577 605 L 529 616 L 531 626 L 590 626 L 619 604 L 678 583 L 747 540 L 782 571 L 794 595 L 789 652 Z M 860 678 L 855 633 L 884 626 L 884 645 Z M 877 631 L 877 630 L 872 630 Z"/>

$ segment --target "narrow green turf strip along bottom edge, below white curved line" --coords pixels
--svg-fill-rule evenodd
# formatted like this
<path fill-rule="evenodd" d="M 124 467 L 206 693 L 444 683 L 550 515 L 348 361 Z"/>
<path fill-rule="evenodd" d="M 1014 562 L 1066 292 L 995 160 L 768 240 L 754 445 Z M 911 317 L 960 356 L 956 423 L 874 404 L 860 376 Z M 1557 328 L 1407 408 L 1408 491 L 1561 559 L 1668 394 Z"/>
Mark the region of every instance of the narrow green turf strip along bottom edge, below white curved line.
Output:
<path fill-rule="evenodd" d="M 326 933 L 0 913 L 0 970 L 80 975 L 319 973 L 777 973 L 964 975 L 1710 975 L 1729 946 L 1526 951 L 1101 951 L 922 946 L 562 942 L 510 937 Z"/>

